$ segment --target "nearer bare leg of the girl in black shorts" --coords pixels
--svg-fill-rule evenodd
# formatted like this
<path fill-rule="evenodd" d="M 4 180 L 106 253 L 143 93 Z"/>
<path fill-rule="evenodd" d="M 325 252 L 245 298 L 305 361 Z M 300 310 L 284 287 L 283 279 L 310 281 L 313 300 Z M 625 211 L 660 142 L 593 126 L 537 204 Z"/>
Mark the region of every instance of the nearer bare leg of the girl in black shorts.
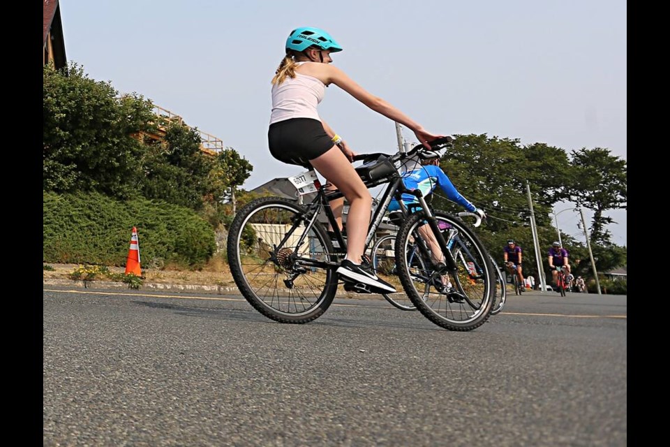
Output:
<path fill-rule="evenodd" d="M 347 198 L 349 202 L 347 259 L 352 263 L 360 263 L 370 225 L 372 196 L 350 161 L 337 146 L 310 160 L 310 163 L 323 177 L 333 182 Z"/>

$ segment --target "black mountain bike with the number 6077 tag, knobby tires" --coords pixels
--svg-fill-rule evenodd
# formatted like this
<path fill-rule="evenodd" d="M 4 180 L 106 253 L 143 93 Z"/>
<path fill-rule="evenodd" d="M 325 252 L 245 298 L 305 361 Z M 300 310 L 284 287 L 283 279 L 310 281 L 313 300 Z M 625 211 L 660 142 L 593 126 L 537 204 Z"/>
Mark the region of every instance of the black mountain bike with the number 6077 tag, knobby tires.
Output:
<path fill-rule="evenodd" d="M 451 142 L 450 137 L 435 140 L 431 142 L 432 150 L 449 147 Z M 384 185 L 368 226 L 365 248 L 367 251 L 370 247 L 392 198 L 401 202 L 403 193 L 414 195 L 422 210 L 412 214 L 399 229 L 395 251 L 403 247 L 405 252 L 416 244 L 420 256 L 416 262 L 423 263 L 422 279 L 414 281 L 412 261 L 408 263 L 405 256 L 397 256 L 401 284 L 415 307 L 436 325 L 449 330 L 473 330 L 490 316 L 495 274 L 488 252 L 463 221 L 442 212 L 433 214 L 421 191 L 405 188 L 401 171 L 407 170 L 407 163 L 415 163 L 415 155 L 422 150 L 424 146 L 417 145 L 408 152 L 355 157 L 355 161 L 363 161 L 355 169 L 368 188 Z M 313 194 L 313 198 L 301 205 L 297 200 L 265 197 L 242 207 L 230 226 L 228 263 L 239 291 L 258 312 L 281 323 L 307 323 L 326 312 L 340 284 L 336 269 L 346 253 L 346 240 L 329 203 L 343 194 L 322 186 L 313 169 L 289 179 L 299 196 Z M 463 254 L 466 265 L 479 265 L 479 272 L 463 272 L 462 264 L 456 263 L 449 241 L 439 231 L 438 218 L 452 223 L 454 232 L 449 237 L 461 237 L 469 249 L 468 254 Z M 428 223 L 436 233 L 445 263 L 433 263 L 426 242 L 417 232 L 419 223 Z M 327 224 L 334 228 L 341 247 L 337 251 L 327 235 Z M 455 285 L 454 291 L 438 293 L 434 279 L 447 274 Z M 343 286 L 347 291 L 372 293 L 364 284 L 343 281 Z M 421 295 L 417 288 L 422 289 Z M 419 302 L 421 305 L 417 305 Z"/>

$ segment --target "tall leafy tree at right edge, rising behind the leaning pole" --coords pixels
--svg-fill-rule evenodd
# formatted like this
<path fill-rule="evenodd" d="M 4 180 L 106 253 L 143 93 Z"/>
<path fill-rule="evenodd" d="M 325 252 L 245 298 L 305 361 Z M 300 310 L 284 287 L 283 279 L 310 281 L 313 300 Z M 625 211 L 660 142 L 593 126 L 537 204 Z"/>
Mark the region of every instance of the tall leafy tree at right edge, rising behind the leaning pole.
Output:
<path fill-rule="evenodd" d="M 609 149 L 580 149 L 572 151 L 574 172 L 569 200 L 593 210 L 590 240 L 592 244 L 611 244 L 611 233 L 605 226 L 613 222 L 603 213 L 627 209 L 627 162 L 611 155 Z"/>

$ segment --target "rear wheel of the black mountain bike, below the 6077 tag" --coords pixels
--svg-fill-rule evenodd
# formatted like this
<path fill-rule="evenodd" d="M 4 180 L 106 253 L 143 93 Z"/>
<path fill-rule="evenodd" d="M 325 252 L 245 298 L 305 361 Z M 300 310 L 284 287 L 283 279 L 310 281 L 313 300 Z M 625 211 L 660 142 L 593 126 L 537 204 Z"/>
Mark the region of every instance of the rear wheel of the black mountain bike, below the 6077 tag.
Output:
<path fill-rule="evenodd" d="M 321 316 L 337 291 L 333 247 L 320 223 L 307 228 L 304 208 L 292 200 L 252 200 L 228 233 L 228 264 L 244 298 L 281 323 Z"/>

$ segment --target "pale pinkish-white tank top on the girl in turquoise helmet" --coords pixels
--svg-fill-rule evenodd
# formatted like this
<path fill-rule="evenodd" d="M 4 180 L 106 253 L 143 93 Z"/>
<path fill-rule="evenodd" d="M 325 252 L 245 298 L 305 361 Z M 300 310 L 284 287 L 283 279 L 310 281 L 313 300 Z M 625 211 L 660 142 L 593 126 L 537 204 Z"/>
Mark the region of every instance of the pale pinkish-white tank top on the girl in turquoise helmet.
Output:
<path fill-rule="evenodd" d="M 305 62 L 298 62 L 297 65 Z M 309 75 L 295 73 L 281 84 L 272 85 L 270 124 L 291 118 L 312 118 L 321 121 L 316 106 L 326 91 L 323 82 Z"/>

